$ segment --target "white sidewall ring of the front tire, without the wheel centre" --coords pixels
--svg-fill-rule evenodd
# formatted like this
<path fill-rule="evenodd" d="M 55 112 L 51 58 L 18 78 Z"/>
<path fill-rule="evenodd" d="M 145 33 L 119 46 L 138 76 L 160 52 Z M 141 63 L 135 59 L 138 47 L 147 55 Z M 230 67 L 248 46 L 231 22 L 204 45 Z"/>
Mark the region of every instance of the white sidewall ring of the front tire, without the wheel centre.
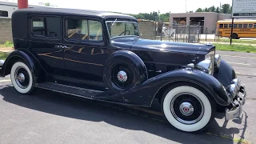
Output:
<path fill-rule="evenodd" d="M 204 106 L 202 118 L 194 124 L 183 124 L 182 122 L 178 122 L 178 120 L 174 118 L 173 114 L 171 113 L 170 102 L 175 95 L 183 92 L 196 95 L 202 101 L 202 105 Z M 205 130 L 213 119 L 214 109 L 214 103 L 212 103 L 211 99 L 207 98 L 206 94 L 194 86 L 176 86 L 166 90 L 166 93 L 162 97 L 162 113 L 164 114 L 166 120 L 178 130 L 186 132 L 198 132 Z"/>

